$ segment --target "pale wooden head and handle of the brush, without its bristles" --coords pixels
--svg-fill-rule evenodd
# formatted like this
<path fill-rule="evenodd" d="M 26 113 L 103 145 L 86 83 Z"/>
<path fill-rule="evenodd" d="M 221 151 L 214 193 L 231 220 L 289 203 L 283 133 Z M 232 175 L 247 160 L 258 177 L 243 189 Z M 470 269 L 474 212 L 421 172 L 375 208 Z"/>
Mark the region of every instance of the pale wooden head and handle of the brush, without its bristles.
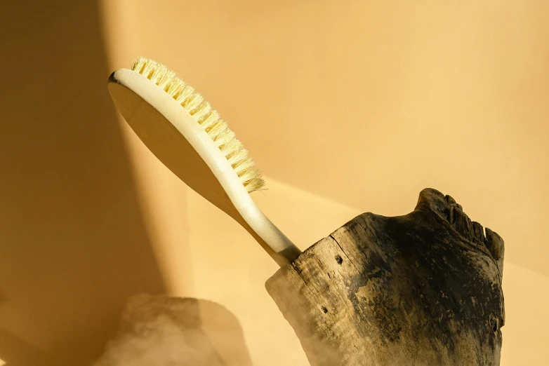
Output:
<path fill-rule="evenodd" d="M 284 266 L 301 251 L 261 212 L 211 137 L 168 93 L 138 72 L 119 69 L 109 91 L 126 122 L 159 160 L 249 231 Z"/>

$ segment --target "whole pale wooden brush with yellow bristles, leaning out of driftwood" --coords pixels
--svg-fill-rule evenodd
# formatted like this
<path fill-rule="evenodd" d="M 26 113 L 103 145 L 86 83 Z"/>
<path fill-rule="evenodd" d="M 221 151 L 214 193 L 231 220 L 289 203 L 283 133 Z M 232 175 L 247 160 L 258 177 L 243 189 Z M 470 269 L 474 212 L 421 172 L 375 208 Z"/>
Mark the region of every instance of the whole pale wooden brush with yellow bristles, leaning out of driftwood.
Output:
<path fill-rule="evenodd" d="M 261 212 L 250 193 L 265 184 L 218 112 L 166 66 L 138 57 L 108 88 L 126 122 L 159 160 L 246 229 L 284 266 L 301 251 Z"/>

